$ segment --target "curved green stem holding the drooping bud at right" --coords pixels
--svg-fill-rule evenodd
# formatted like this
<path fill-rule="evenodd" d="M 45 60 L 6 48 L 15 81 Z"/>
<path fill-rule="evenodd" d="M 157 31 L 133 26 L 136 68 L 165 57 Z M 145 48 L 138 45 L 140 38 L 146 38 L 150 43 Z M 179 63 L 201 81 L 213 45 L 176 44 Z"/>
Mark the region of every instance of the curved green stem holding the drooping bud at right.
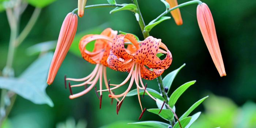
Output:
<path fill-rule="evenodd" d="M 162 16 L 165 16 L 166 14 L 169 14 L 171 11 L 177 9 L 177 8 L 181 8 L 190 4 L 202 4 L 202 1 L 200 0 L 192 0 L 192 1 L 188 1 L 186 3 L 182 3 L 179 4 L 173 8 L 170 8 L 169 10 L 166 10 L 165 12 L 163 12 L 161 15 L 159 15 L 157 18 L 155 18 L 154 20 L 152 20 L 151 22 L 154 23 L 155 21 L 158 21 Z"/>

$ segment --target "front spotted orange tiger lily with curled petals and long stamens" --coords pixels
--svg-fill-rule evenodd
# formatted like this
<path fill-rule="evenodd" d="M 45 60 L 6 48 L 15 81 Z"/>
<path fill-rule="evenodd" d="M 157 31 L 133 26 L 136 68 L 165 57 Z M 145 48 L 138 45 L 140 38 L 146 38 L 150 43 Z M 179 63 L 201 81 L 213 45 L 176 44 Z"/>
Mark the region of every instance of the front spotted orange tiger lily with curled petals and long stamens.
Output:
<path fill-rule="evenodd" d="M 124 48 L 124 42 L 127 40 L 129 40 L 134 45 L 136 50 L 132 51 Z M 164 50 L 160 48 L 163 48 Z M 167 54 L 165 59 L 160 60 L 156 56 L 158 52 Z M 117 104 L 117 106 L 120 105 L 120 103 L 122 103 L 123 99 L 131 89 L 133 81 L 135 81 L 138 90 L 138 99 L 140 107 L 142 109 L 139 96 L 139 89 L 145 90 L 146 93 L 151 98 L 157 101 L 150 93 L 148 93 L 146 87 L 142 82 L 142 79 L 153 80 L 157 78 L 157 76 L 161 75 L 163 71 L 167 69 L 172 63 L 172 54 L 167 49 L 167 47 L 161 42 L 161 39 L 157 39 L 150 36 L 147 37 L 144 41 L 138 42 L 132 34 L 120 34 L 113 39 L 112 49 L 110 50 L 107 63 L 109 65 L 109 68 L 112 68 L 116 71 L 129 72 L 129 75 L 124 80 L 124 82 L 122 82 L 121 84 L 110 84 L 111 86 L 115 87 L 109 90 L 117 89 L 118 87 L 127 83 L 128 80 L 131 78 L 128 89 L 124 91 L 124 93 L 119 95 L 109 94 L 109 97 L 123 97 L 119 104 Z M 148 69 L 146 66 L 150 69 Z M 139 86 L 139 81 L 141 87 Z M 142 114 L 144 110 L 142 109 Z"/>

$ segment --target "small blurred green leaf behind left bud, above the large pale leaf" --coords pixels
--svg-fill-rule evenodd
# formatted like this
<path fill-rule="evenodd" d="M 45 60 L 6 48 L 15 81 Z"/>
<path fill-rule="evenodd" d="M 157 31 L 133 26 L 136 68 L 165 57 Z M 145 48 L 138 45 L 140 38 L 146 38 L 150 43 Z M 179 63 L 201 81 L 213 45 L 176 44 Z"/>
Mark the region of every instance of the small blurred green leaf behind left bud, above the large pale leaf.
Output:
<path fill-rule="evenodd" d="M 57 41 L 46 41 L 30 46 L 26 49 L 26 54 L 29 56 L 39 54 L 41 52 L 48 52 L 56 48 Z"/>

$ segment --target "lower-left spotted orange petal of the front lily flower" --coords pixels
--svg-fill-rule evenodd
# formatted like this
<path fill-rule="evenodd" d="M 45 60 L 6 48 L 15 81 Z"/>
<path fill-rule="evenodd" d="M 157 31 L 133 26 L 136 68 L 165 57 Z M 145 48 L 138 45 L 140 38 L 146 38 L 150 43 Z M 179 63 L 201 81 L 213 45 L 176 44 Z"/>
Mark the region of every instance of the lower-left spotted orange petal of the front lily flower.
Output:
<path fill-rule="evenodd" d="M 124 61 L 123 59 L 114 55 L 111 49 L 107 62 L 108 62 L 109 68 L 113 70 L 121 71 L 121 72 L 129 72 L 131 70 L 132 63 L 133 63 L 133 61 L 131 60 L 132 59 L 128 61 Z"/>

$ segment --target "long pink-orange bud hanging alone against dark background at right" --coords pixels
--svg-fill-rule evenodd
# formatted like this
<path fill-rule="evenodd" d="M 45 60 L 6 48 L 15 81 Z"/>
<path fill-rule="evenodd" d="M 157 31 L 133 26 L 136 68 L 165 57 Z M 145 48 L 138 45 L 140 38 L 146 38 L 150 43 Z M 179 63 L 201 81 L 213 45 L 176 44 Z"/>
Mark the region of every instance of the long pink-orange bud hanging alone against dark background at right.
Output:
<path fill-rule="evenodd" d="M 205 3 L 199 4 L 197 6 L 196 15 L 198 25 L 200 27 L 206 46 L 211 54 L 212 60 L 219 74 L 221 76 L 226 76 L 226 71 L 221 56 L 221 50 L 219 49 L 214 21 L 209 7 Z"/>

